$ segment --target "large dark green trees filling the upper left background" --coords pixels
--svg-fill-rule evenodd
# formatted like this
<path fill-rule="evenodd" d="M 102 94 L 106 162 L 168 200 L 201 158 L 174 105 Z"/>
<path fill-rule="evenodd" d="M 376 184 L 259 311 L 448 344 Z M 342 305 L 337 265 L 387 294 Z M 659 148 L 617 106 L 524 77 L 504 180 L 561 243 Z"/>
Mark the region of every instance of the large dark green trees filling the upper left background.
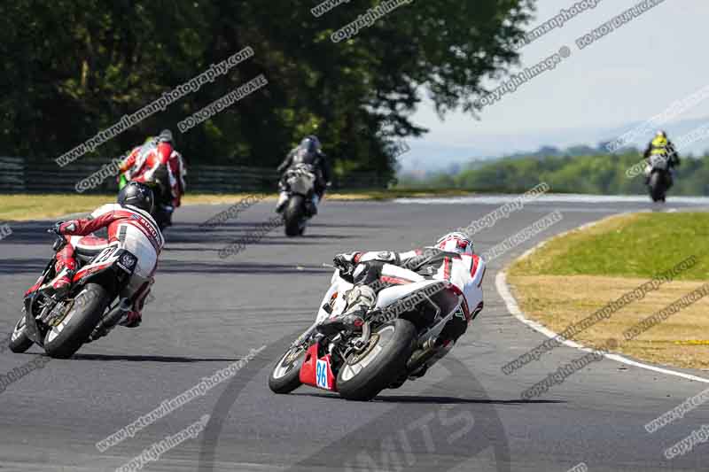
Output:
<path fill-rule="evenodd" d="M 393 175 L 392 139 L 425 95 L 474 113 L 481 80 L 517 60 L 532 0 L 414 1 L 351 40 L 378 1 L 316 18 L 317 0 L 13 0 L 0 5 L 0 155 L 55 159 L 238 50 L 253 58 L 102 144 L 110 158 L 171 128 L 188 163 L 276 166 L 302 135 L 339 174 Z M 185 134 L 176 124 L 264 74 L 269 85 Z M 383 122 L 391 123 L 381 132 Z M 537 182 L 535 180 L 535 182 Z"/>

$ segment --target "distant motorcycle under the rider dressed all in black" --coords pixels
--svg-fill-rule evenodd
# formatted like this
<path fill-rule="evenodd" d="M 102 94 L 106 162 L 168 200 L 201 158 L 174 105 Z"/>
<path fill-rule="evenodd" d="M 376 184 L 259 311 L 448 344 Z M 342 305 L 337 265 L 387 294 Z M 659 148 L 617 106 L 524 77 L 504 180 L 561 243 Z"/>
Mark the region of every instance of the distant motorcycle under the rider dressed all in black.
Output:
<path fill-rule="evenodd" d="M 308 164 L 292 166 L 285 172 L 284 191 L 288 193 L 283 211 L 285 236 L 301 236 L 305 232 L 315 210 L 316 178 L 313 166 Z"/>

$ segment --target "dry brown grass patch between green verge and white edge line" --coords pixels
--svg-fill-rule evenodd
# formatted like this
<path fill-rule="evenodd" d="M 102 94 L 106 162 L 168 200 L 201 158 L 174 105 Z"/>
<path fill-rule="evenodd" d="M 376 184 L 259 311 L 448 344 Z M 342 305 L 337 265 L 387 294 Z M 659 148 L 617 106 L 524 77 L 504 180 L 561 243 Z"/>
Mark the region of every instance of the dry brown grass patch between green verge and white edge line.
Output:
<path fill-rule="evenodd" d="M 510 275 L 508 280 L 522 310 L 557 333 L 647 282 L 640 278 L 519 273 Z M 619 341 L 617 351 L 636 359 L 679 368 L 709 369 L 709 298 L 700 299 L 632 341 L 626 342 L 623 337 L 624 330 L 704 283 L 663 284 L 642 300 L 613 313 L 608 320 L 581 332 L 575 340 L 600 346 L 615 338 Z"/>

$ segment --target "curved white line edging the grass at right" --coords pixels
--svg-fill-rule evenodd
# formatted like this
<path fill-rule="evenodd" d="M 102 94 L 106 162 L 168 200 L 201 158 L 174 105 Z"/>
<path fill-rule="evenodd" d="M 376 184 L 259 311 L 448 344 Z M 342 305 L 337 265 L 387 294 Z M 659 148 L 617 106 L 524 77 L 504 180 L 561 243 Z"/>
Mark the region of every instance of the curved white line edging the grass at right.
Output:
<path fill-rule="evenodd" d="M 620 213 L 622 214 L 622 213 Z M 534 251 L 537 251 L 543 246 L 544 244 L 547 244 L 551 239 L 554 239 L 556 237 L 564 236 L 567 233 L 570 233 L 572 231 L 578 231 L 580 229 L 585 229 L 585 228 L 590 228 L 600 221 L 604 220 L 599 220 L 599 221 L 594 221 L 591 223 L 587 223 L 585 225 L 580 226 L 579 228 L 572 229 L 570 231 L 565 231 L 563 233 L 559 233 L 557 236 L 553 236 L 545 241 L 542 241 L 540 244 L 537 244 L 534 246 L 532 249 L 525 251 L 521 256 L 518 257 L 518 259 L 525 259 L 526 257 L 529 257 Z M 495 289 L 497 290 L 497 293 L 500 295 L 501 298 L 503 298 L 504 304 L 507 307 L 507 311 L 514 316 L 515 318 L 518 319 L 518 321 L 523 322 L 530 328 L 534 329 L 535 331 L 541 333 L 542 335 L 550 338 L 557 337 L 558 334 L 552 331 L 551 329 L 547 328 L 546 326 L 542 325 L 538 321 L 530 320 L 525 316 L 525 313 L 522 312 L 522 310 L 519 308 L 517 304 L 517 300 L 512 296 L 512 292 L 510 291 L 510 286 L 507 284 L 507 273 L 504 269 L 501 269 L 497 275 L 495 275 Z M 564 344 L 565 346 L 572 347 L 574 349 L 578 349 L 583 352 L 597 352 L 594 349 L 589 349 L 588 347 L 583 346 L 582 344 L 578 344 L 574 341 L 568 340 L 568 339 L 562 339 L 559 338 L 558 341 L 561 344 Z M 636 360 L 630 360 L 627 359 L 626 357 L 623 357 L 619 354 L 611 354 L 611 353 L 604 353 L 603 354 L 604 358 L 609 359 L 609 360 L 615 360 L 616 362 L 620 362 L 622 364 L 627 364 L 628 366 L 633 366 L 636 368 L 644 368 L 646 370 L 651 370 L 653 372 L 658 372 L 660 374 L 666 374 L 666 375 L 674 375 L 675 377 L 681 377 L 683 379 L 687 380 L 692 380 L 695 382 L 700 382 L 700 383 L 709 383 L 709 379 L 705 379 L 704 377 L 698 377 L 697 375 L 691 375 L 691 374 L 685 374 L 683 372 L 677 372 L 676 370 L 670 370 L 667 368 L 659 368 L 657 366 L 652 366 L 650 364 L 643 364 L 642 362 L 637 362 Z"/>

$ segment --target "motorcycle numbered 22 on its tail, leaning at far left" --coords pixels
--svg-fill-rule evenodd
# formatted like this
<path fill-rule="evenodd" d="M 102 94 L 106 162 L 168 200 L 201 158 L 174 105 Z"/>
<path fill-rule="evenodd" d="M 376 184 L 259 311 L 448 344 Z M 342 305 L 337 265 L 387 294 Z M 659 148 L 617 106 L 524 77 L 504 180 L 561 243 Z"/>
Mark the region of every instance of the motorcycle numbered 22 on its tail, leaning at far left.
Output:
<path fill-rule="evenodd" d="M 108 334 L 129 311 L 128 298 L 116 298 L 130 282 L 137 258 L 117 243 L 97 255 L 74 251 L 77 271 L 66 295 L 57 297 L 39 290 L 56 276 L 56 252 L 67 244 L 64 236 L 55 234 L 55 255 L 25 293 L 23 315 L 10 337 L 12 352 L 25 352 L 37 344 L 53 358 L 70 358 L 82 344 Z"/>

